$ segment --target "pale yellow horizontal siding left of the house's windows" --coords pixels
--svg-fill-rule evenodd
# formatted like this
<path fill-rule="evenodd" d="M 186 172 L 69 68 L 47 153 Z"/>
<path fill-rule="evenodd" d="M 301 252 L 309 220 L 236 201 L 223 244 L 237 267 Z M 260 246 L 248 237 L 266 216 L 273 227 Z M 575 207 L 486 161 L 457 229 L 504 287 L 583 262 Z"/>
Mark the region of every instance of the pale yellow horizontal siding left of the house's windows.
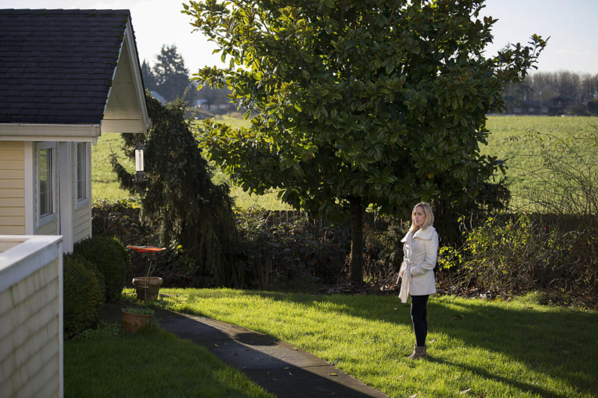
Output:
<path fill-rule="evenodd" d="M 0 234 L 25 233 L 25 145 L 0 141 Z"/>

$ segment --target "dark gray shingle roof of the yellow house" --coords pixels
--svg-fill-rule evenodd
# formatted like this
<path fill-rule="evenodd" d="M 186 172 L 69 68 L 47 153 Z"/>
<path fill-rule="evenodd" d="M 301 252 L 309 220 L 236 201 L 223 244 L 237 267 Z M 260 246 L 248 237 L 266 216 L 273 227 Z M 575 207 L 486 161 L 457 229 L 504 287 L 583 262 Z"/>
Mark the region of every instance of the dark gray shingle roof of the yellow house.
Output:
<path fill-rule="evenodd" d="M 129 19 L 129 10 L 0 10 L 0 123 L 100 123 Z"/>

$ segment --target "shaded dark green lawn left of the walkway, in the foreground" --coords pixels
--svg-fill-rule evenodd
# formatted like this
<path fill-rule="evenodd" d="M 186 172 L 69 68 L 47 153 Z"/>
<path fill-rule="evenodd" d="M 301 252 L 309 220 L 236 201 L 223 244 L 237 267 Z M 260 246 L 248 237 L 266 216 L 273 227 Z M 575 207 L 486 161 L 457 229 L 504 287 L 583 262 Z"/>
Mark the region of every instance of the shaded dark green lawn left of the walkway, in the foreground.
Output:
<path fill-rule="evenodd" d="M 273 398 L 208 350 L 160 329 L 65 341 L 65 397 Z"/>

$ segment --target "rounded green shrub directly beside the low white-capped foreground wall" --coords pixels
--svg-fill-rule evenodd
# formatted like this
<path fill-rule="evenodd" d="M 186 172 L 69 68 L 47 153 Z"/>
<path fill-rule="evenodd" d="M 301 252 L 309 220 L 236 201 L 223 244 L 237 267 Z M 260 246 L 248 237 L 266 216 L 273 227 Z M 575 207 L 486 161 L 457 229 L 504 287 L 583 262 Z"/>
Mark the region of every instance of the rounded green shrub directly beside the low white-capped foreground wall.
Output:
<path fill-rule="evenodd" d="M 93 266 L 77 255 L 63 259 L 63 324 L 65 338 L 93 326 L 100 316 L 103 295 Z"/>

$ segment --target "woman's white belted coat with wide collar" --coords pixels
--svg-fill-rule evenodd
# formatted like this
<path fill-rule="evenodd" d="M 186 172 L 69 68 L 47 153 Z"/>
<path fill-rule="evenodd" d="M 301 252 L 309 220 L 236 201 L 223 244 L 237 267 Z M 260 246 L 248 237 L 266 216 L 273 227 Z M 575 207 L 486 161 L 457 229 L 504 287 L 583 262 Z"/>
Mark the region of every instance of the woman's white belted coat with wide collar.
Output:
<path fill-rule="evenodd" d="M 434 267 L 438 257 L 438 233 L 434 226 L 418 229 L 415 234 L 407 232 L 403 242 L 403 262 L 401 302 L 407 302 L 407 296 L 423 296 L 436 293 Z M 401 277 L 401 276 L 399 276 Z"/>

